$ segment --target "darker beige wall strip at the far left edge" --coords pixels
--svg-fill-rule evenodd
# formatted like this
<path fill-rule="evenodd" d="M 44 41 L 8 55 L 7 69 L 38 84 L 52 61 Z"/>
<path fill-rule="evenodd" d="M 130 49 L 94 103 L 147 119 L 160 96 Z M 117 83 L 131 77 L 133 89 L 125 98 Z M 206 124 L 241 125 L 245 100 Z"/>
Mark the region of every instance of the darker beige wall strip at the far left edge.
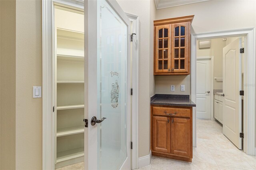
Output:
<path fill-rule="evenodd" d="M 15 169 L 16 2 L 0 1 L 0 169 Z"/>

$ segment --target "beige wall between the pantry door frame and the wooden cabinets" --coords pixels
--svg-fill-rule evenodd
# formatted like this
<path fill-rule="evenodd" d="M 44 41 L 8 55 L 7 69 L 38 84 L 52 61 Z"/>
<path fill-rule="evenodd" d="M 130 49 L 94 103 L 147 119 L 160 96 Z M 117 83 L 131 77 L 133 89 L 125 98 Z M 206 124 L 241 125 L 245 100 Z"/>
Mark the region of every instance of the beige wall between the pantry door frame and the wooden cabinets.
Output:
<path fill-rule="evenodd" d="M 146 156 L 150 150 L 150 95 L 154 94 L 154 83 L 152 72 L 152 50 L 153 38 L 152 21 L 154 14 L 153 3 L 149 0 L 118 0 L 118 4 L 124 12 L 139 17 L 139 157 Z M 154 11 L 152 11 L 154 13 Z M 149 38 L 149 36 L 152 36 Z"/>

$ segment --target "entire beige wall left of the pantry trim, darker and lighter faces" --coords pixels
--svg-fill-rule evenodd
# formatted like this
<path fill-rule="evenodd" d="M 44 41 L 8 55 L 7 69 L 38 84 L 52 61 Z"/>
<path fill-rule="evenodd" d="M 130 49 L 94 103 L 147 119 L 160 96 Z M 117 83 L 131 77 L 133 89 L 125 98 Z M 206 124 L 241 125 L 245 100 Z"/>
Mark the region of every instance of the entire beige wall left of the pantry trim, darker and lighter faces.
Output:
<path fill-rule="evenodd" d="M 42 2 L 0 1 L 0 169 L 42 169 Z"/>

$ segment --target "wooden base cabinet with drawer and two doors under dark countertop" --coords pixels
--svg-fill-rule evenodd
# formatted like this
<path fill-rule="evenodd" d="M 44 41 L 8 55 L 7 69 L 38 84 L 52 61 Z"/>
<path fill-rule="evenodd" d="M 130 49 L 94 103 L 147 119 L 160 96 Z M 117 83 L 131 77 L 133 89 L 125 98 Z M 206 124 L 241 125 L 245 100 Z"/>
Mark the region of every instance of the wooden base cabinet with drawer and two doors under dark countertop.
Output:
<path fill-rule="evenodd" d="M 192 107 L 151 106 L 151 151 L 192 162 Z"/>

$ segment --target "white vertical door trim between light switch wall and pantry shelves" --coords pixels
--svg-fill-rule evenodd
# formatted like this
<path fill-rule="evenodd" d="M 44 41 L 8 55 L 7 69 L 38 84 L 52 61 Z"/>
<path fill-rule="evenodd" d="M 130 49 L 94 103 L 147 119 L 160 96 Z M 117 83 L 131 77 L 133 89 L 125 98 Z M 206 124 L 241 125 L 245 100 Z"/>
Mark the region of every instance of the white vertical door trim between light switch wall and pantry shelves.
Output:
<path fill-rule="evenodd" d="M 42 0 L 42 169 L 54 169 L 53 2 Z"/>

